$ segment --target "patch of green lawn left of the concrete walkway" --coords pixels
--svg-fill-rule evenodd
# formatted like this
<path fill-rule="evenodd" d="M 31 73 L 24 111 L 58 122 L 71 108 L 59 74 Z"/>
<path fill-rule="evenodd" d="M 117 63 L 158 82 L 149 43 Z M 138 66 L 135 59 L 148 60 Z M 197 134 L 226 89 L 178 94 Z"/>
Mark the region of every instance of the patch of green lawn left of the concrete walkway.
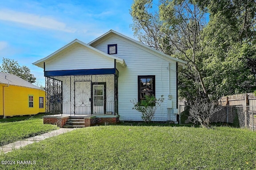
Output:
<path fill-rule="evenodd" d="M 57 129 L 56 125 L 43 124 L 42 115 L 0 120 L 0 146 Z"/>

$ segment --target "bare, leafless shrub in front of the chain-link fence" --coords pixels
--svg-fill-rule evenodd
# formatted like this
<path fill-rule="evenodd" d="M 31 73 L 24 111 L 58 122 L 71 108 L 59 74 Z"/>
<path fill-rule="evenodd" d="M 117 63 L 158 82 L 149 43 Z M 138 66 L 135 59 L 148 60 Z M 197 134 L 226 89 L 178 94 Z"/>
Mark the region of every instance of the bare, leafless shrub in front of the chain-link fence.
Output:
<path fill-rule="evenodd" d="M 207 100 L 197 100 L 190 107 L 189 118 L 193 123 L 199 122 L 202 127 L 210 128 L 210 118 L 221 110 L 216 102 Z"/>

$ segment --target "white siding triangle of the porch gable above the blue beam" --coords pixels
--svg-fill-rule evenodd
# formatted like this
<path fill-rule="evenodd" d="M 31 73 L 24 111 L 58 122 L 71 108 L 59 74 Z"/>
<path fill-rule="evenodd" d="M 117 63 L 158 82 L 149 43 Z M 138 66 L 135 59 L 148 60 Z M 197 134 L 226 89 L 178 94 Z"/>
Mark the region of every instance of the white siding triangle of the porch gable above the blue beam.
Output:
<path fill-rule="evenodd" d="M 114 68 L 114 59 L 106 59 L 82 45 L 74 45 L 65 53 L 45 63 L 45 70 L 78 70 Z"/>

